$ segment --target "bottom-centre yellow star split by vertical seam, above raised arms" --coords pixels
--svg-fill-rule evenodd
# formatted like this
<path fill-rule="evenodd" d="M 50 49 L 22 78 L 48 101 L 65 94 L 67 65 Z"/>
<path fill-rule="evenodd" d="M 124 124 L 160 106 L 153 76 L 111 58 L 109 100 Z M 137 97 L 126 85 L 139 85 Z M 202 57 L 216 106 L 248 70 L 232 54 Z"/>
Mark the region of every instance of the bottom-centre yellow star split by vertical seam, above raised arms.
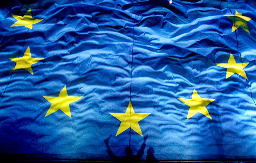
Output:
<path fill-rule="evenodd" d="M 131 128 L 143 137 L 142 131 L 140 129 L 139 121 L 144 119 L 146 116 L 148 116 L 151 113 L 135 113 L 130 101 L 125 113 L 110 113 L 110 114 L 116 117 L 119 121 L 121 121 L 121 124 L 116 133 L 116 136 L 124 132 L 128 128 Z"/>

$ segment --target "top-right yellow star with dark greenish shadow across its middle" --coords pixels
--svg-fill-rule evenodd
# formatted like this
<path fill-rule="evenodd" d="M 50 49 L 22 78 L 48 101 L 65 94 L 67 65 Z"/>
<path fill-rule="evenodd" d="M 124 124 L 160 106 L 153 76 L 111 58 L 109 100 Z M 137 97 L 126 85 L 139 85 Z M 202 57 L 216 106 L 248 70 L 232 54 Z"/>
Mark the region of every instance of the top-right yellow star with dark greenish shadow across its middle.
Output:
<path fill-rule="evenodd" d="M 232 26 L 232 32 L 234 32 L 239 27 L 241 27 L 243 30 L 245 30 L 250 34 L 247 26 L 247 21 L 251 20 L 250 17 L 243 16 L 241 13 L 237 11 L 236 11 L 236 15 L 225 15 L 225 16 L 227 16 L 229 19 L 231 19 L 234 22 Z"/>

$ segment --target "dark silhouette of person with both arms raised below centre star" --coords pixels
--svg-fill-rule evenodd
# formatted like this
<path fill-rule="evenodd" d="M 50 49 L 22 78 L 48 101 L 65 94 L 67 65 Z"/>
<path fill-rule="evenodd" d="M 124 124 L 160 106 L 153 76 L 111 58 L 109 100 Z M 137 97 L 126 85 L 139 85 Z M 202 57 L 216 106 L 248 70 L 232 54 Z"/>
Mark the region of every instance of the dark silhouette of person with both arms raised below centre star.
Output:
<path fill-rule="evenodd" d="M 122 163 L 127 162 L 127 161 L 132 162 L 132 163 L 140 163 L 141 162 L 141 157 L 144 154 L 144 150 L 146 147 L 146 140 L 147 140 L 148 135 L 145 135 L 144 141 L 143 141 L 140 149 L 138 150 L 137 155 L 134 155 L 132 149 L 128 146 L 128 147 L 125 147 L 126 156 L 124 156 L 124 157 L 116 156 L 113 153 L 113 151 L 111 150 L 111 148 L 109 146 L 109 140 L 111 137 L 112 137 L 112 135 L 110 135 L 108 138 L 106 138 L 104 140 L 104 143 L 106 144 L 106 147 L 108 148 L 106 151 L 108 152 L 109 156 L 112 158 L 113 161 L 122 162 Z"/>

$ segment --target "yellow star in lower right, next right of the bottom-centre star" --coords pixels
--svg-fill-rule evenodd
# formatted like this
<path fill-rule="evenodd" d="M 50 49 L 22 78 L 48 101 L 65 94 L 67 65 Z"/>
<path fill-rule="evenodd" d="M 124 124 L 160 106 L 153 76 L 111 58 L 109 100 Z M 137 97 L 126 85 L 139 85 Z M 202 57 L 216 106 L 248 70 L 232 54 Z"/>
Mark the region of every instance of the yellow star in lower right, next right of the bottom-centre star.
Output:
<path fill-rule="evenodd" d="M 178 98 L 181 102 L 184 104 L 190 106 L 187 114 L 187 120 L 194 116 L 196 113 L 202 113 L 206 117 L 212 119 L 210 116 L 206 106 L 213 102 L 215 99 L 213 98 L 201 98 L 198 94 L 197 91 L 194 89 L 194 92 L 192 94 L 191 99 L 185 99 L 185 98 Z"/>

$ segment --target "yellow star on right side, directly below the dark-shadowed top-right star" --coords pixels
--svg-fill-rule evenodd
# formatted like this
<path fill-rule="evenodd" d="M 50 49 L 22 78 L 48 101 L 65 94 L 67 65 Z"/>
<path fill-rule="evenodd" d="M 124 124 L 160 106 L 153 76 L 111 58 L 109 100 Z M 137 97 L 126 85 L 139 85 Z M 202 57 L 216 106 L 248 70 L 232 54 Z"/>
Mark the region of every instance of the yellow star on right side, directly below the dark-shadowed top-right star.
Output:
<path fill-rule="evenodd" d="M 244 72 L 244 68 L 249 64 L 249 62 L 245 63 L 237 63 L 234 59 L 234 56 L 230 53 L 230 57 L 228 59 L 228 63 L 220 63 L 216 64 L 217 66 L 227 68 L 226 79 L 229 78 L 234 73 L 243 76 L 247 79 L 246 73 Z"/>

